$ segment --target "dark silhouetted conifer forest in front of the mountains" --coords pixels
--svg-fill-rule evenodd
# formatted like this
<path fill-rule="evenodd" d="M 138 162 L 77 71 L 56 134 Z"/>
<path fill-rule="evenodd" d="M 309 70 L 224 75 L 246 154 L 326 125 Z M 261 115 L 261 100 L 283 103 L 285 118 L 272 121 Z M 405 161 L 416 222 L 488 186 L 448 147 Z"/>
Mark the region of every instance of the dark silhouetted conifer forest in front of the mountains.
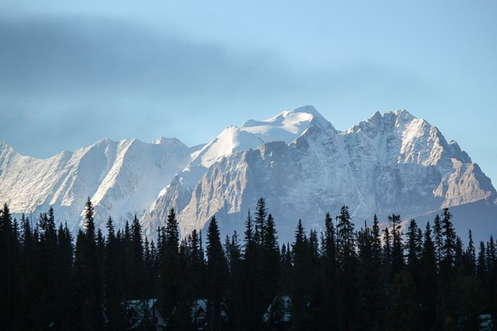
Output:
<path fill-rule="evenodd" d="M 180 241 L 172 209 L 156 243 L 136 217 L 117 231 L 109 218 L 104 237 L 93 215 L 88 199 L 73 238 L 52 209 L 32 225 L 3 206 L 1 330 L 154 330 L 150 319 L 130 323 L 126 310 L 150 298 L 166 330 L 478 330 L 480 314 L 497 316 L 496 243 L 476 248 L 469 232 L 463 247 L 447 209 L 402 233 L 399 215 L 384 230 L 376 216 L 355 229 L 342 207 L 320 233 L 299 220 L 281 246 L 264 199 L 243 234 L 221 239 L 213 217 L 205 244 L 195 230 Z M 207 302 L 203 325 L 192 319 L 197 299 Z M 287 318 L 277 302 L 291 303 L 280 304 Z"/>

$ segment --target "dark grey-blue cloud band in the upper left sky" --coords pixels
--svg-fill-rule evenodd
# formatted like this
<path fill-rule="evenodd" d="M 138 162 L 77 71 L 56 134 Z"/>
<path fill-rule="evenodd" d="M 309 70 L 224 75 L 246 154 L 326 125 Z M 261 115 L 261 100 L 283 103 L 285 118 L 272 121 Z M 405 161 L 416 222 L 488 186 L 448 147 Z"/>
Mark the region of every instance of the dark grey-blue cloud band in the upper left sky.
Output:
<path fill-rule="evenodd" d="M 261 54 L 234 56 L 222 46 L 110 19 L 2 19 L 0 43 L 0 87 L 14 94 L 229 96 L 288 81 L 277 62 L 257 59 Z"/>

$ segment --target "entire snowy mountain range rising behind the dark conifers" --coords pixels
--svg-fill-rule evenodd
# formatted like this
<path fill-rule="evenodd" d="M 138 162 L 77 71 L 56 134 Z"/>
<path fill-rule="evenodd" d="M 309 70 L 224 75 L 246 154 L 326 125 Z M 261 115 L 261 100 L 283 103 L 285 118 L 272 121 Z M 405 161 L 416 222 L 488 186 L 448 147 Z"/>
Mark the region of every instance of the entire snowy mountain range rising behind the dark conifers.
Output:
<path fill-rule="evenodd" d="M 358 226 L 375 213 L 386 220 L 392 213 L 411 218 L 458 207 L 466 215 L 458 223 L 468 227 L 476 223 L 467 210 L 478 205 L 487 215 L 478 227 L 497 232 L 490 179 L 455 141 L 405 110 L 376 112 L 339 132 L 306 106 L 228 127 L 194 148 L 176 139 L 104 139 L 45 160 L 6 144 L 0 153 L 0 201 L 12 212 L 35 214 L 53 205 L 74 228 L 91 197 L 101 228 L 108 216 L 119 226 L 137 214 L 144 233 L 155 237 L 175 208 L 182 235 L 202 229 L 213 215 L 224 234 L 241 233 L 247 212 L 264 197 L 280 243 L 293 241 L 298 219 L 307 230 L 320 229 L 325 212 L 338 214 L 342 205 Z"/>

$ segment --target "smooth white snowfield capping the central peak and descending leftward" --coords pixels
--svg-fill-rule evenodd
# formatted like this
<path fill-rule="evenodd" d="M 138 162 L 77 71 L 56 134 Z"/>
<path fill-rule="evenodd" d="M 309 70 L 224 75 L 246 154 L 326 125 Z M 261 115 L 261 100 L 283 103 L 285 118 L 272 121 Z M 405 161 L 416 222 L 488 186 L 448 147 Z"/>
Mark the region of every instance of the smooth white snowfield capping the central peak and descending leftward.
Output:
<path fill-rule="evenodd" d="M 284 111 L 264 121 L 249 120 L 241 128 L 236 126 L 226 128 L 213 141 L 207 143 L 193 161 L 173 178 L 170 185 L 162 190 L 157 201 L 142 217 L 141 222 L 145 234 L 154 234 L 157 226 L 161 225 L 166 219 L 169 208 L 183 211 L 191 203 L 192 199 L 195 199 L 195 190 L 198 190 L 196 187 L 199 181 L 202 181 L 204 175 L 214 165 L 223 162 L 224 158 L 232 157 L 237 152 L 255 149 L 263 143 L 271 143 L 282 139 L 284 143 L 291 143 L 315 124 L 324 126 L 332 132 L 337 132 L 331 123 L 324 119 L 312 106 Z M 189 223 L 196 224 L 188 225 L 191 230 L 193 228 L 202 228 L 206 215 L 212 216 L 213 213 L 205 213 L 205 210 L 217 210 L 216 202 L 202 200 L 201 203 L 204 203 L 203 209 L 200 208 L 202 209 L 200 213 L 203 216 L 197 217 L 195 213 L 195 216 L 191 212 L 188 213 L 187 217 L 190 217 L 190 215 L 193 217 Z M 191 208 L 193 207 L 188 209 L 191 210 Z M 186 210 L 184 213 L 186 213 Z"/>

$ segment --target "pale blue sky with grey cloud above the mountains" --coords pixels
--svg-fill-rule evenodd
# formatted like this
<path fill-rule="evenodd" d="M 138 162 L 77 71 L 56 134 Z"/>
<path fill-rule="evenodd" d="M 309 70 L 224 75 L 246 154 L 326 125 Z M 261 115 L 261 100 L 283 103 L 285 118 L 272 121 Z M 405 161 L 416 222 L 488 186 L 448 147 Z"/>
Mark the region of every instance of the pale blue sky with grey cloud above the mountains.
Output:
<path fill-rule="evenodd" d="M 313 105 L 406 109 L 497 183 L 497 1 L 0 1 L 0 141 L 206 143 Z"/>

